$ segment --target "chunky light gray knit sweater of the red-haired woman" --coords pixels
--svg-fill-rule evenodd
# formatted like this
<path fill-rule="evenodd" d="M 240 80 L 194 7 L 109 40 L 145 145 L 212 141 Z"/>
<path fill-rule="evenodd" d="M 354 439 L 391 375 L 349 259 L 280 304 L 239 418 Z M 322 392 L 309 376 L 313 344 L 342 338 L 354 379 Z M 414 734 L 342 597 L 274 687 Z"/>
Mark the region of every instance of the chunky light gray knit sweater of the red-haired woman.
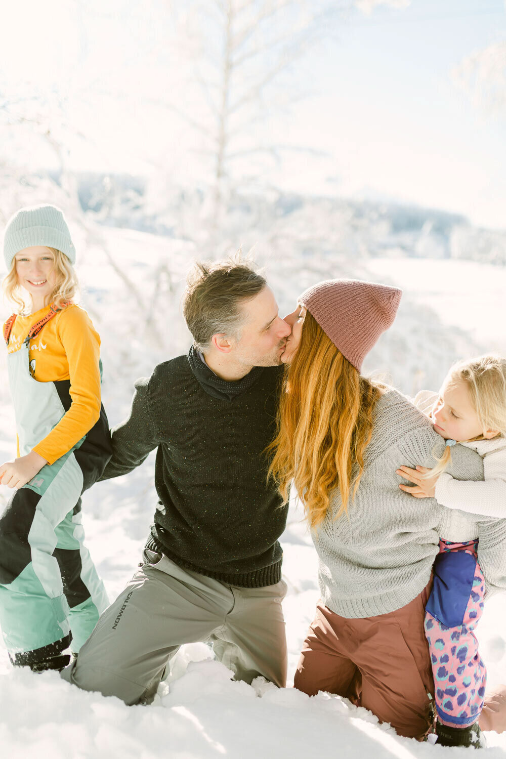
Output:
<path fill-rule="evenodd" d="M 506 589 L 506 519 L 445 509 L 433 498 L 417 499 L 399 489 L 400 465 L 433 467 L 445 441 L 404 395 L 389 389 L 376 405 L 372 439 L 348 515 L 332 493 L 332 515 L 313 531 L 319 555 L 322 600 L 347 618 L 400 609 L 423 591 L 438 553 L 439 537 L 479 537 L 479 562 L 487 594 Z M 464 446 L 451 452 L 448 472 L 457 480 L 482 480 L 482 459 Z"/>

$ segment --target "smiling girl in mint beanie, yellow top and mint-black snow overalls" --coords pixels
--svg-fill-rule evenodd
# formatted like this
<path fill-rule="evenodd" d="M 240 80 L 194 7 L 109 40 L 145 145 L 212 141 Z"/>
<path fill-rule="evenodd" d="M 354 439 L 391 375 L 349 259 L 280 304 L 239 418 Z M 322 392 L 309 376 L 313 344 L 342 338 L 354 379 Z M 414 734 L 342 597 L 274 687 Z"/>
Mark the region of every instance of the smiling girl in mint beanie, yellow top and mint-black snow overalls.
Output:
<path fill-rule="evenodd" d="M 20 209 L 5 228 L 3 286 L 17 458 L 0 518 L 0 626 L 12 663 L 61 669 L 107 606 L 83 546 L 80 496 L 111 456 L 99 335 L 73 301 L 75 249 L 55 206 Z"/>

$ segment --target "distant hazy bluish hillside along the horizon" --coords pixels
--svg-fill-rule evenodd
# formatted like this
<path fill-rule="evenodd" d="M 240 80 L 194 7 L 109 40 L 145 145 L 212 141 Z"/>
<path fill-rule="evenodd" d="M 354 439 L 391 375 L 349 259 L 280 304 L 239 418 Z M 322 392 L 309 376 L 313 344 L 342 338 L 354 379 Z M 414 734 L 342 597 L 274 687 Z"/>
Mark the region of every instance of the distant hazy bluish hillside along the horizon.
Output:
<path fill-rule="evenodd" d="M 55 176 L 55 179 L 57 177 Z M 204 188 L 181 189 L 130 175 L 77 175 L 80 204 L 102 224 L 170 237 L 185 236 L 188 207 L 206 222 Z M 229 191 L 225 230 L 229 237 L 275 237 L 292 229 L 306 256 L 343 247 L 354 257 L 457 258 L 506 263 L 506 231 L 478 228 L 465 216 L 391 200 L 350 200 L 289 194 Z M 299 234 L 294 235 L 297 229 Z M 297 246 L 298 247 L 298 246 Z M 294 253 L 297 248 L 294 248 Z"/>

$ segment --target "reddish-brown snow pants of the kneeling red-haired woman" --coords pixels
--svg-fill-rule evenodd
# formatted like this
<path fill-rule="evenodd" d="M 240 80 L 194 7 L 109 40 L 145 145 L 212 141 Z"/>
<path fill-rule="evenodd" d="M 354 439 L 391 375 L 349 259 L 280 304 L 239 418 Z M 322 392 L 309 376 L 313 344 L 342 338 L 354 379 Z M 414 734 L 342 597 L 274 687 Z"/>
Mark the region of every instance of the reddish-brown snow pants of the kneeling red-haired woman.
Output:
<path fill-rule="evenodd" d="M 432 581 L 401 609 L 365 619 L 346 619 L 319 603 L 295 688 L 310 696 L 328 691 L 350 698 L 391 723 L 398 735 L 422 739 L 432 723 L 434 694 L 423 630 L 431 586 Z"/>

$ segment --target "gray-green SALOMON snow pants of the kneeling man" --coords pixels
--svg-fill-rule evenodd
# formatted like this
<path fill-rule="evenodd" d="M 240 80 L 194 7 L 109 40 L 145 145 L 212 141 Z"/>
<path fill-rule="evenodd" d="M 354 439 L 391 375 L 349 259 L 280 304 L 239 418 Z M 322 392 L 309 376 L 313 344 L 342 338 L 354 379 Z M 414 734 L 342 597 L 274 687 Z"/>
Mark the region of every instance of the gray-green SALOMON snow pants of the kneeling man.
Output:
<path fill-rule="evenodd" d="M 283 580 L 236 587 L 190 572 L 153 551 L 105 609 L 77 660 L 61 676 L 85 691 L 149 704 L 181 644 L 212 641 L 216 658 L 250 683 L 286 684 Z"/>

